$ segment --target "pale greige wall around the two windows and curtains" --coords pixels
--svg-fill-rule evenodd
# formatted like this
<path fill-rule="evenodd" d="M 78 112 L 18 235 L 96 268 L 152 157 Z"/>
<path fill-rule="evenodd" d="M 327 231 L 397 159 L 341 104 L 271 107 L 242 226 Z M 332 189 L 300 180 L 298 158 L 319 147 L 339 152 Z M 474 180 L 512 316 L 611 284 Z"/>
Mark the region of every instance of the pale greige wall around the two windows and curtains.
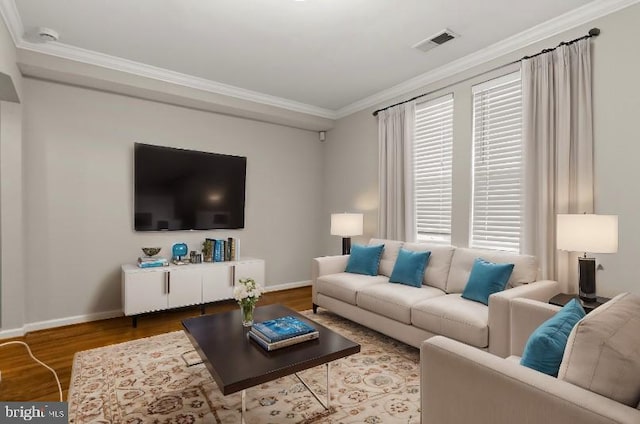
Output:
<path fill-rule="evenodd" d="M 423 87 L 404 98 L 449 86 L 431 98 L 454 93 L 453 244 L 466 246 L 471 198 L 471 95 L 473 84 L 505 74 L 512 69 L 492 72 L 455 84 L 473 75 L 519 59 L 560 41 L 580 37 L 597 26 L 602 34 L 593 41 L 593 90 L 595 131 L 596 213 L 617 214 L 620 219 L 620 245 L 617 254 L 600 255 L 605 270 L 598 273 L 598 294 L 621 291 L 640 292 L 635 268 L 640 252 L 640 196 L 635 189 L 640 181 L 640 157 L 637 120 L 640 117 L 640 55 L 634 43 L 640 39 L 640 5 L 600 18 L 502 58 L 487 62 L 459 75 Z M 427 97 L 427 98 L 429 98 Z M 379 107 L 402 99 L 392 99 Z M 341 209 L 364 211 L 368 225 L 366 237 L 376 232 L 377 205 L 358 206 L 357 199 L 377 191 L 377 119 L 376 108 L 340 119 L 327 133 L 325 162 L 325 216 Z M 371 149 L 375 149 L 372 152 Z M 377 203 L 377 195 L 375 196 Z M 325 237 L 326 254 L 336 253 L 335 240 Z M 566 282 L 563 282 L 566 283 Z M 574 289 L 575 291 L 575 289 Z"/>

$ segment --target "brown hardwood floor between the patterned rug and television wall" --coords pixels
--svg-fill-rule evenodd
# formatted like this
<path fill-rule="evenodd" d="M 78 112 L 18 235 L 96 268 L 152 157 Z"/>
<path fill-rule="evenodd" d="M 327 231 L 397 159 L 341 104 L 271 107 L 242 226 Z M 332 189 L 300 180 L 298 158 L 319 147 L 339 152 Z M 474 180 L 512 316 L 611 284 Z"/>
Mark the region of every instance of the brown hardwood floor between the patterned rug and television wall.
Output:
<path fill-rule="evenodd" d="M 281 303 L 297 311 L 311 309 L 311 287 L 265 293 L 260 305 Z M 212 314 L 237 308 L 235 301 L 207 305 Z M 181 321 L 200 315 L 194 307 L 145 315 L 138 319 L 138 327 L 131 326 L 131 318 L 121 317 L 49 330 L 34 331 L 24 337 L 0 340 L 21 340 L 29 344 L 34 356 L 53 368 L 62 384 L 63 400 L 67 400 L 73 355 L 76 352 L 122 343 L 182 329 Z M 24 346 L 0 347 L 0 400 L 2 401 L 58 401 L 58 388 L 53 374 L 31 359 Z"/>

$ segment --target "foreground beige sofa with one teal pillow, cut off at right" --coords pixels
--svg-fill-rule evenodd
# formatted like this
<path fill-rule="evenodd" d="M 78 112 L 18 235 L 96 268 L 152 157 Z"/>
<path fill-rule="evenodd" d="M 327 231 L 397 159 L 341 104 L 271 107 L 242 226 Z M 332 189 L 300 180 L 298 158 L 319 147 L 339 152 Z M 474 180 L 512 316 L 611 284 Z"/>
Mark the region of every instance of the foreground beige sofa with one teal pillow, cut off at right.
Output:
<path fill-rule="evenodd" d="M 555 378 L 520 365 L 519 356 L 558 309 L 514 300 L 507 359 L 445 337 L 425 341 L 422 423 L 640 423 L 640 296 L 616 296 L 576 324 Z"/>

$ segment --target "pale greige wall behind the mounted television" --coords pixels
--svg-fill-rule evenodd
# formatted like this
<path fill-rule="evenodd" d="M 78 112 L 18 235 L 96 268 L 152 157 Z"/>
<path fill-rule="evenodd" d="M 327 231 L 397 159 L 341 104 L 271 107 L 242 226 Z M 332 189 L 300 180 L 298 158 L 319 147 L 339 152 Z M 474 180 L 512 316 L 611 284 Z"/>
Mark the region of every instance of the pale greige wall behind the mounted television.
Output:
<path fill-rule="evenodd" d="M 268 285 L 310 279 L 321 253 L 316 132 L 25 78 L 26 322 L 118 310 L 142 246 L 239 237 Z M 133 231 L 134 141 L 247 156 L 246 228 Z"/>

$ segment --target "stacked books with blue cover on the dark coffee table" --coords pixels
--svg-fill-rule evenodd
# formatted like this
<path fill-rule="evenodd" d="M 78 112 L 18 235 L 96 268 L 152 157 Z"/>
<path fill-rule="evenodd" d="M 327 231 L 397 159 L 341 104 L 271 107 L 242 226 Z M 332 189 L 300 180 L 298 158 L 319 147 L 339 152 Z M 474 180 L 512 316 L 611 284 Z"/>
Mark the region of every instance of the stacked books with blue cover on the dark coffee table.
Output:
<path fill-rule="evenodd" d="M 249 337 L 265 350 L 280 349 L 318 336 L 318 330 L 291 315 L 253 324 L 249 330 Z"/>

